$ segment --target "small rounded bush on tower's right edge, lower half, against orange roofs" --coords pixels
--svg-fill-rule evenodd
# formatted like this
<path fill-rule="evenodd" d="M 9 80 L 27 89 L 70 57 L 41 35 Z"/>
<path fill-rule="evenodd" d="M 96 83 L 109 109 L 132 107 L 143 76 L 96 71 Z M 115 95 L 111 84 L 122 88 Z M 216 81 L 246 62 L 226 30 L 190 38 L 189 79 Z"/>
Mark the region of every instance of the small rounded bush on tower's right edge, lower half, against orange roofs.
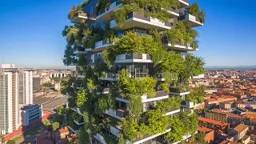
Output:
<path fill-rule="evenodd" d="M 188 94 L 186 100 L 194 103 L 202 103 L 205 96 L 205 89 L 206 87 L 203 85 L 195 87 L 190 91 L 190 94 Z"/>

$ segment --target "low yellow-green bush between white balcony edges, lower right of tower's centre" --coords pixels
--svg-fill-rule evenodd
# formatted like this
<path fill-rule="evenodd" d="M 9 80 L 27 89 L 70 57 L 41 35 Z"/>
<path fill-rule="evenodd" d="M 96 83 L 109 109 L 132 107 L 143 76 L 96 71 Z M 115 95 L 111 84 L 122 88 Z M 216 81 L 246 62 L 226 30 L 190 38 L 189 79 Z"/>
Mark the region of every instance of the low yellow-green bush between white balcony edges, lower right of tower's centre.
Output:
<path fill-rule="evenodd" d="M 164 101 L 157 102 L 157 108 L 161 111 L 170 109 L 179 109 L 181 106 L 182 99 L 180 97 L 172 96 Z"/>

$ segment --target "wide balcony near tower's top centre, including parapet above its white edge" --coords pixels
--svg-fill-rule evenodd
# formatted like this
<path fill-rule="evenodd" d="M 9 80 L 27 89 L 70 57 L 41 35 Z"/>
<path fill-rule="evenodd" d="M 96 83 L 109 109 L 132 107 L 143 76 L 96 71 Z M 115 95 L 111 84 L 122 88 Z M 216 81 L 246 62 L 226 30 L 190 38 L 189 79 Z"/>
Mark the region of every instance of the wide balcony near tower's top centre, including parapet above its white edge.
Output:
<path fill-rule="evenodd" d="M 170 30 L 171 22 L 161 22 L 157 18 L 146 17 L 143 14 L 131 12 L 122 27 L 115 20 L 110 21 L 111 29 L 127 30 L 133 27 L 142 29 L 156 29 L 158 31 Z"/>

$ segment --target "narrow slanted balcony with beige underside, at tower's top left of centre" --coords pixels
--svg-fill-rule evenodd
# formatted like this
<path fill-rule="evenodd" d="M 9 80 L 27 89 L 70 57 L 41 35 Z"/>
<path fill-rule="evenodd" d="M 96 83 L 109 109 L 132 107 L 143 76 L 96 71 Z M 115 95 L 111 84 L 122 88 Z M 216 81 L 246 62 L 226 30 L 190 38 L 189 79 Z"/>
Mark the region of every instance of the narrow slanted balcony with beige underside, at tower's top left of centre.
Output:
<path fill-rule="evenodd" d="M 113 2 L 110 4 L 110 7 L 108 10 L 103 11 L 102 14 L 98 14 L 98 16 L 96 17 L 96 19 L 101 19 L 104 21 L 109 21 L 112 18 L 112 15 L 114 14 L 114 10 L 117 9 L 118 7 L 122 6 L 122 3 L 120 2 Z"/>

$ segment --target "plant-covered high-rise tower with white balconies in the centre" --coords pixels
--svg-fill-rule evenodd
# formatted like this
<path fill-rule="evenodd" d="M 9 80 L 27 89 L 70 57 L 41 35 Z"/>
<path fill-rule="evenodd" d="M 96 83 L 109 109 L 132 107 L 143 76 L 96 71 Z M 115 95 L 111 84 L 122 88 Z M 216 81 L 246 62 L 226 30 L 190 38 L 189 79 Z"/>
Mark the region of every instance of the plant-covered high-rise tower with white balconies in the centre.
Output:
<path fill-rule="evenodd" d="M 198 50 L 193 28 L 204 15 L 188 0 L 90 0 L 70 10 L 63 62 L 80 74 L 66 90 L 82 143 L 178 143 L 197 133 L 204 90 L 190 91 L 188 80 L 204 62 L 188 52 Z"/>

